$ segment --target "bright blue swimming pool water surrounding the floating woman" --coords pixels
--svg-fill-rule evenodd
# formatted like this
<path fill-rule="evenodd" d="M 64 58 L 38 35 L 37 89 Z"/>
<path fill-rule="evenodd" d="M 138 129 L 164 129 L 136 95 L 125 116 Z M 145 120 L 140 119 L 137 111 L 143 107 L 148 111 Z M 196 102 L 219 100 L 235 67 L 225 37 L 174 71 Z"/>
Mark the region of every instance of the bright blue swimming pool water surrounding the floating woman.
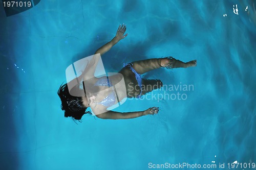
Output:
<path fill-rule="evenodd" d="M 215 169 L 225 163 L 228 169 L 234 161 L 256 163 L 253 4 L 41 1 L 10 17 L 1 6 L 1 166 L 149 169 L 148 163 L 184 162 L 216 164 Z M 116 109 L 160 107 L 154 116 L 103 120 L 85 115 L 76 125 L 63 116 L 57 96 L 65 69 L 110 41 L 123 22 L 129 35 L 102 56 L 107 71 L 148 58 L 197 59 L 197 67 L 144 75 L 193 89 L 154 91 L 150 100 L 127 100 Z M 178 92 L 186 100 L 172 100 Z"/>

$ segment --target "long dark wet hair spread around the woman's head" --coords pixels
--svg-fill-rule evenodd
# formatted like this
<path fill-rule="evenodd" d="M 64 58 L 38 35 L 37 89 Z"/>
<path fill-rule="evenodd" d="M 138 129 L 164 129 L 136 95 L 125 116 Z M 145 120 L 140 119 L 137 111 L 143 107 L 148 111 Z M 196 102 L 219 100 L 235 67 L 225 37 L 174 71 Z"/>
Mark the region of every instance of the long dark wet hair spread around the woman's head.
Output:
<path fill-rule="evenodd" d="M 71 90 L 80 90 L 79 85 L 76 85 Z M 61 100 L 61 110 L 65 111 L 65 117 L 72 117 L 81 122 L 83 114 L 92 114 L 90 111 L 86 112 L 87 107 L 83 106 L 81 97 L 70 95 L 67 83 L 60 85 L 58 95 Z"/>

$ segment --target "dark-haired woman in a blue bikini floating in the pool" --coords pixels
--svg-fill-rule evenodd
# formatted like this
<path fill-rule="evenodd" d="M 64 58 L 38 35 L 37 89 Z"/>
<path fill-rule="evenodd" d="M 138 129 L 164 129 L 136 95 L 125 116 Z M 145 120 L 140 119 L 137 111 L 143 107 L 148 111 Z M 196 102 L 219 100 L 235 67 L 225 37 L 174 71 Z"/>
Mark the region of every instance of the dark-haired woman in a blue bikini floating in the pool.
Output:
<path fill-rule="evenodd" d="M 125 25 L 120 25 L 116 36 L 108 43 L 100 47 L 95 52 L 95 59 L 92 60 L 89 65 L 93 65 L 97 59 L 97 54 L 102 56 L 104 53 L 108 52 L 112 46 L 114 46 L 121 39 L 125 38 L 127 34 L 124 35 L 126 31 Z M 98 55 L 99 56 L 99 55 Z M 119 71 L 119 75 L 123 76 L 126 92 L 119 93 L 117 95 L 118 85 L 115 85 L 119 78 L 111 79 L 110 77 L 94 77 L 95 70 L 90 69 L 86 74 L 81 75 L 84 80 L 88 80 L 88 76 L 92 76 L 90 81 L 83 82 L 87 84 L 86 88 L 97 88 L 98 91 L 104 91 L 97 94 L 88 94 L 85 90 L 79 87 L 79 84 L 74 86 L 72 89 L 69 89 L 68 84 L 61 85 L 58 90 L 58 95 L 61 100 L 61 109 L 65 111 L 65 117 L 72 116 L 74 119 L 80 120 L 84 114 L 92 114 L 91 112 L 86 112 L 88 107 L 93 108 L 94 110 L 99 111 L 99 114 L 95 114 L 99 118 L 103 119 L 127 119 L 140 117 L 147 114 L 157 114 L 158 107 L 151 107 L 143 111 L 137 112 L 126 112 L 120 113 L 111 110 L 106 110 L 107 108 L 117 104 L 119 101 L 122 101 L 124 98 L 140 98 L 144 94 L 151 92 L 154 89 L 162 87 L 162 82 L 160 80 L 148 80 L 142 79 L 141 75 L 147 71 L 151 71 L 157 68 L 187 68 L 191 66 L 196 66 L 197 61 L 182 62 L 173 57 L 166 58 L 154 58 L 147 60 L 140 60 L 131 63 L 124 64 L 124 67 Z M 92 72 L 90 74 L 90 72 Z M 114 77 L 114 76 L 113 76 Z M 117 76 L 118 77 L 118 76 Z M 111 81 L 110 81 L 111 80 Z M 118 80 L 115 82 L 115 80 Z M 91 83 L 91 85 L 90 85 Z M 139 87 L 139 88 L 138 88 Z M 146 87 L 146 88 L 142 88 Z M 71 91 L 84 91 L 83 95 L 71 95 Z M 100 95 L 99 95 L 100 94 Z M 92 109 L 92 110 L 93 110 Z M 94 111 L 93 111 L 94 112 Z"/>

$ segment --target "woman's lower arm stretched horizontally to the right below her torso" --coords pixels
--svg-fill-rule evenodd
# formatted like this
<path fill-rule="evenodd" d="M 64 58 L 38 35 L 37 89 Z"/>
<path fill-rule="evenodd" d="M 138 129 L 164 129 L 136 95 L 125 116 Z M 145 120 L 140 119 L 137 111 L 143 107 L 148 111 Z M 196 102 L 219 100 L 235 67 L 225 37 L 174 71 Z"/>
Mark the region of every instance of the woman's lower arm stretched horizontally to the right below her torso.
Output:
<path fill-rule="evenodd" d="M 120 113 L 120 112 L 108 111 L 105 113 L 98 114 L 96 116 L 102 119 L 128 119 L 128 118 L 136 118 L 136 117 L 144 116 L 147 114 L 157 114 L 157 113 L 158 113 L 158 107 L 151 107 L 147 110 L 139 111 L 139 112 Z"/>

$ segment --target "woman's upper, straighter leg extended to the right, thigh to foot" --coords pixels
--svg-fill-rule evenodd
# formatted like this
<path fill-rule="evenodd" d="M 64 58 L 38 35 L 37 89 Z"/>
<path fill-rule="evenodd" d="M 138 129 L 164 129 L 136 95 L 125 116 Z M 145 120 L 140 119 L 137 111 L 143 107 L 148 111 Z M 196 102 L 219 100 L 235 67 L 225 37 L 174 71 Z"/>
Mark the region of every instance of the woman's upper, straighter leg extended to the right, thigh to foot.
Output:
<path fill-rule="evenodd" d="M 189 61 L 189 62 L 182 62 L 180 60 L 176 60 L 173 57 L 166 57 L 166 58 L 154 58 L 154 59 L 147 59 L 147 60 L 140 60 L 134 61 L 133 68 L 138 72 L 138 74 L 144 74 L 147 71 L 166 67 L 166 68 L 187 68 L 191 66 L 196 66 L 197 61 Z"/>

